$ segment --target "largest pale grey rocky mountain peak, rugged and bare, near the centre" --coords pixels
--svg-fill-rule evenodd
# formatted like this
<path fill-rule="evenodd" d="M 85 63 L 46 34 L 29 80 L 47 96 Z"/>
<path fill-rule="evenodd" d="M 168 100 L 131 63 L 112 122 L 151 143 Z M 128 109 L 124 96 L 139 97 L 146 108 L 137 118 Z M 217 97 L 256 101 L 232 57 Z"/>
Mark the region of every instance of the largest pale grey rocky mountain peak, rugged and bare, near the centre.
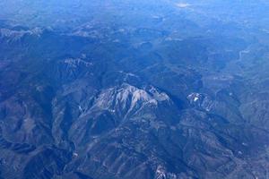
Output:
<path fill-rule="evenodd" d="M 147 90 L 148 89 L 148 90 Z M 137 88 L 128 83 L 103 90 L 96 99 L 95 107 L 109 111 L 130 114 L 143 107 L 157 107 L 168 102 L 169 96 L 154 87 Z"/>

